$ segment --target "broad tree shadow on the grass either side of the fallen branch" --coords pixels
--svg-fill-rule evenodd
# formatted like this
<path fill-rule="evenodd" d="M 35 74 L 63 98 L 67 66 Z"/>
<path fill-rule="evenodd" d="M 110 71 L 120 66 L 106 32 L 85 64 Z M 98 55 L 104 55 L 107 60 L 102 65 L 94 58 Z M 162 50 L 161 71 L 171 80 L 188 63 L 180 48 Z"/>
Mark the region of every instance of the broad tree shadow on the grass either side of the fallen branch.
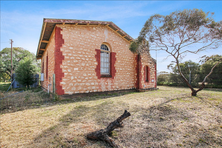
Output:
<path fill-rule="evenodd" d="M 172 105 L 172 101 L 186 97 L 166 99 L 156 106 L 131 108 L 132 116 L 124 121 L 125 127 L 115 130 L 113 137 L 122 147 L 214 147 L 222 139 L 213 132 L 218 128 L 196 123 L 198 120 L 187 109 Z M 32 147 L 110 147 L 105 142 L 86 140 L 86 134 L 105 128 L 122 114 L 129 103 L 116 104 L 111 100 L 86 106 L 76 106 L 30 143 Z M 118 107 L 117 107 L 118 105 Z M 118 114 L 118 115 L 117 115 Z"/>

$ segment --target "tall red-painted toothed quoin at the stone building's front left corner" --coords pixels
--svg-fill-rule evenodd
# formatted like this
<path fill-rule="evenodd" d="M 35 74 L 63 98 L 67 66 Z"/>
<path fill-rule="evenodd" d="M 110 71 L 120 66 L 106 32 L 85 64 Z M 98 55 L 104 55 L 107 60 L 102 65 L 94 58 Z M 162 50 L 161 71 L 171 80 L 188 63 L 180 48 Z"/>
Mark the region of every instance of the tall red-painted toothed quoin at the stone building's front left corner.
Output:
<path fill-rule="evenodd" d="M 62 29 L 57 27 L 55 28 L 55 84 L 56 84 L 56 93 L 58 95 L 63 95 L 64 90 L 60 85 L 62 82 L 62 78 L 64 77 L 64 73 L 62 72 L 62 68 L 60 65 L 62 64 L 62 60 L 64 60 L 64 56 L 62 55 L 61 47 L 64 44 L 64 40 L 61 34 Z"/>

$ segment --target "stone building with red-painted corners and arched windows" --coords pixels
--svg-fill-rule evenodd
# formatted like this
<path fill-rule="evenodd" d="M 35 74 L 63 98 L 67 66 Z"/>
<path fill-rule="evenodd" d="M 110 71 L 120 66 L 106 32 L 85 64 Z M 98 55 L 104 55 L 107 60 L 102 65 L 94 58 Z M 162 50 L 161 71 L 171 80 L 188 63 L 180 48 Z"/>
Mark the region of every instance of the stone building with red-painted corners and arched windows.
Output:
<path fill-rule="evenodd" d="M 52 91 L 55 74 L 58 95 L 156 88 L 155 60 L 138 58 L 131 41 L 113 22 L 44 19 L 36 54 L 42 87 Z"/>

